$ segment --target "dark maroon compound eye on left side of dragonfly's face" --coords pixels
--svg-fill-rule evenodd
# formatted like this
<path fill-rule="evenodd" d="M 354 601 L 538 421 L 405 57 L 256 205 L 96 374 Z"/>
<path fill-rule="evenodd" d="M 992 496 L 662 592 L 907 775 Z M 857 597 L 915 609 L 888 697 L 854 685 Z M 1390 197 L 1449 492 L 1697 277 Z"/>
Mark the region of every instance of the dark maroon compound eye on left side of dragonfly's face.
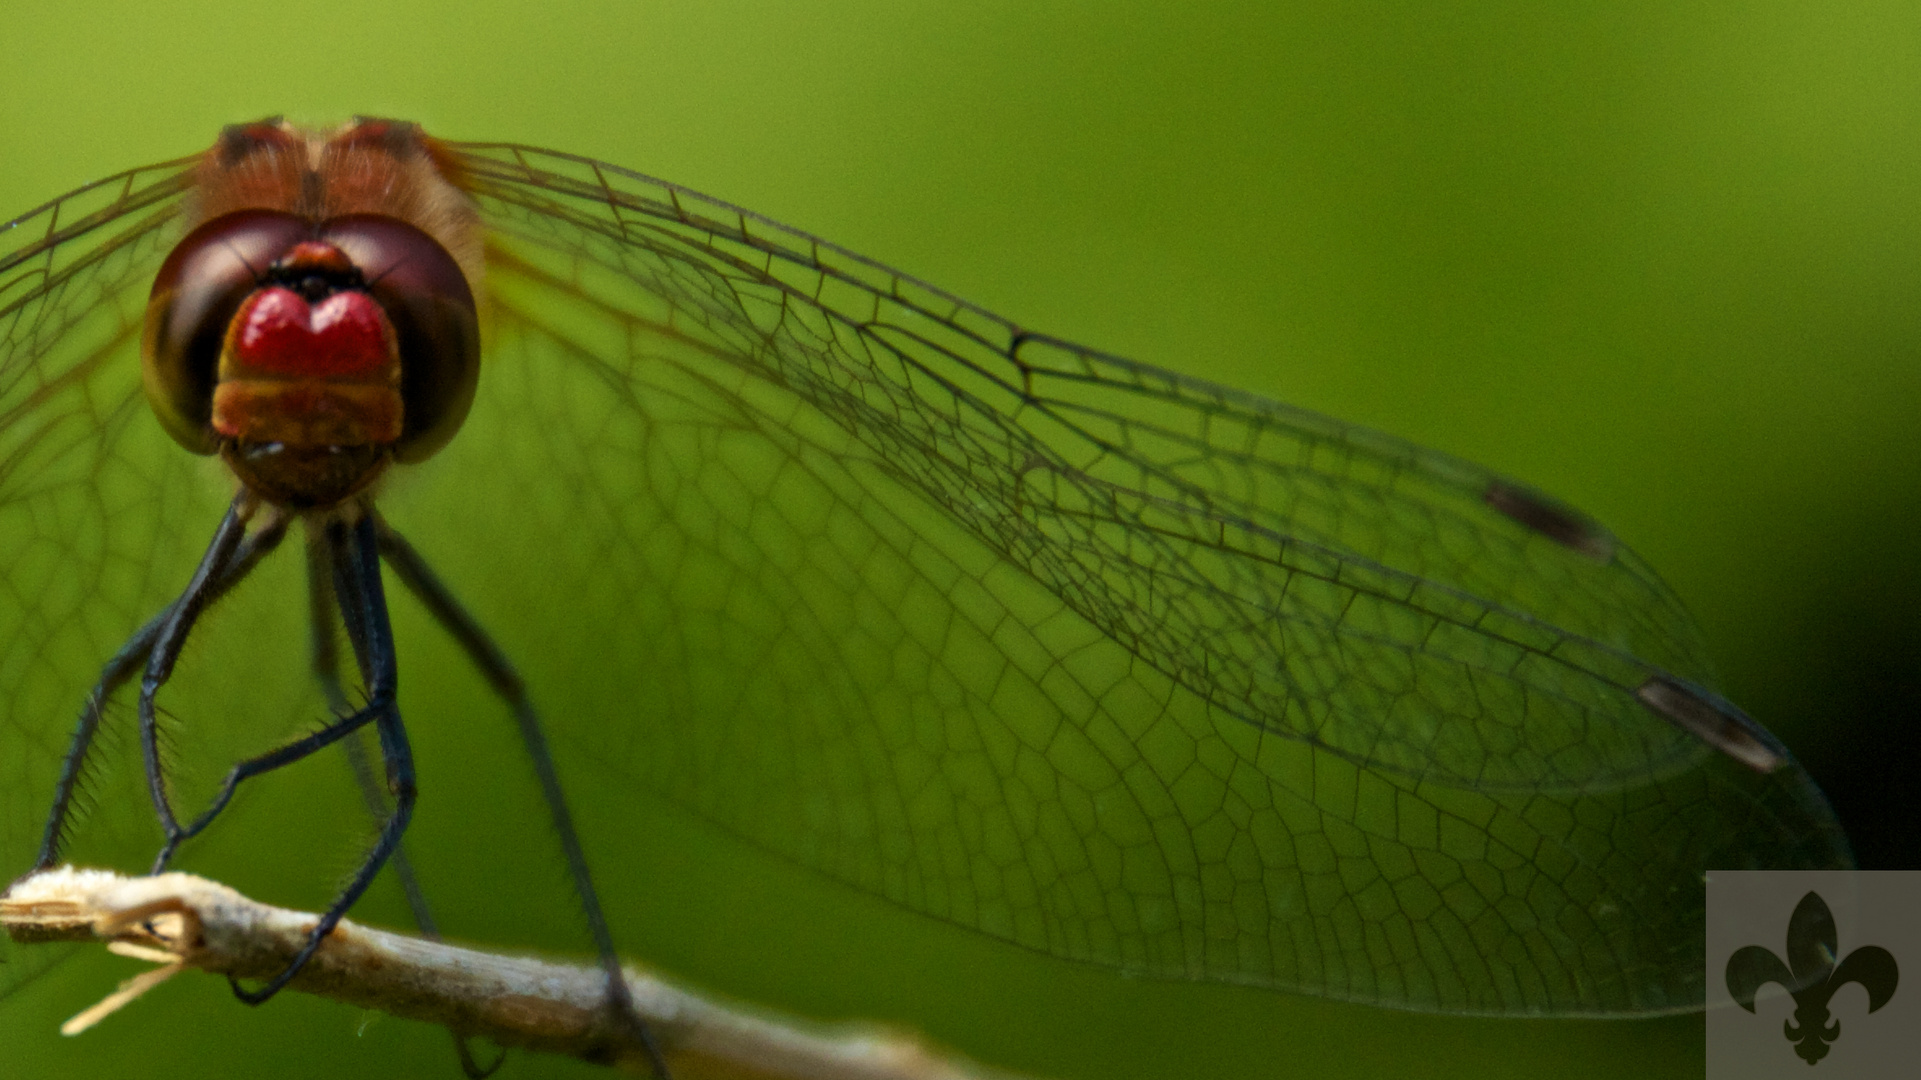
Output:
<path fill-rule="evenodd" d="M 219 450 L 213 382 L 227 325 L 267 267 L 311 234 L 292 213 L 242 209 L 194 229 L 161 263 L 146 300 L 140 375 L 154 415 L 181 446 Z"/>

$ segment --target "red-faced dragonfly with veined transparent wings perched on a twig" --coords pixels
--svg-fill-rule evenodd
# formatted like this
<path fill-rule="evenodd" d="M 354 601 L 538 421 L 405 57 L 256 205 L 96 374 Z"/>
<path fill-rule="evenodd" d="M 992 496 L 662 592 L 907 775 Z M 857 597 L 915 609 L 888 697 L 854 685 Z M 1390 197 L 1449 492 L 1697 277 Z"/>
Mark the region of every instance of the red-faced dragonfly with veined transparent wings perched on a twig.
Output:
<path fill-rule="evenodd" d="M 294 530 L 305 594 L 269 596 Z M 609 963 L 549 728 L 1028 949 L 1395 1009 L 1698 1009 L 1706 871 L 1852 863 L 1585 513 L 688 188 L 259 121 L 0 231 L 8 872 L 86 834 L 165 865 L 338 744 L 378 832 L 311 951 L 434 798 L 386 575 L 521 734 Z M 169 688 L 302 601 L 284 663 Z M 184 815 L 179 748 L 225 738 L 194 713 L 236 700 L 269 749 Z"/>

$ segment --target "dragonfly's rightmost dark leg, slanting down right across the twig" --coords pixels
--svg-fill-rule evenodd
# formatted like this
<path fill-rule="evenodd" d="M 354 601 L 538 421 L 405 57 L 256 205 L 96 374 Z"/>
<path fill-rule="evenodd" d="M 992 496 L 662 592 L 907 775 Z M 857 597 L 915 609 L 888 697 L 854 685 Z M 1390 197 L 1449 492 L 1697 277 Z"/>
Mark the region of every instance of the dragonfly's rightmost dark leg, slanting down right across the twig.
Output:
<path fill-rule="evenodd" d="M 480 669 L 480 676 L 486 678 L 513 711 L 515 724 L 521 730 L 521 744 L 526 748 L 526 755 L 534 765 L 534 776 L 540 780 L 540 794 L 546 798 L 547 813 L 553 817 L 553 832 L 559 834 L 561 849 L 567 855 L 567 869 L 574 878 L 574 894 L 580 897 L 580 909 L 586 915 L 588 932 L 594 936 L 594 947 L 599 951 L 601 970 L 607 972 L 607 1007 L 640 1040 L 653 1072 L 665 1080 L 669 1074 L 667 1061 L 661 1057 L 661 1047 L 655 1043 L 653 1032 L 640 1020 L 640 1013 L 634 1009 L 626 974 L 620 970 L 620 955 L 615 951 L 613 932 L 607 928 L 599 894 L 594 890 L 594 874 L 588 871 L 588 857 L 580 847 L 580 834 L 574 830 L 572 813 L 567 809 L 567 798 L 561 792 L 561 776 L 553 767 L 553 751 L 547 748 L 540 713 L 534 711 L 534 703 L 526 696 L 526 684 L 521 682 L 521 675 L 513 669 L 507 653 L 494 644 L 494 638 L 453 598 L 453 592 L 426 565 L 426 559 L 421 557 L 413 544 L 407 544 L 378 515 L 373 515 L 373 519 L 380 542 L 380 557 L 386 559 L 386 565 L 394 567 L 394 575 L 407 586 L 407 592 L 459 642 L 467 657 Z"/>

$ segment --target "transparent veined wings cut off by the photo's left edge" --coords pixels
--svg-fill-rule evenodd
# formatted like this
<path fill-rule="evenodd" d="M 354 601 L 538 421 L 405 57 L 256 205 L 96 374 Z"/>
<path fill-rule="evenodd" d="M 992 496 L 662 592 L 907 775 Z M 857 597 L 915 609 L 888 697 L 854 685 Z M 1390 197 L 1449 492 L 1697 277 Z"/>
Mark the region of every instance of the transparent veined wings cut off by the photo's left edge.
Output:
<path fill-rule="evenodd" d="M 190 463 L 140 394 L 140 315 L 188 179 L 190 161 L 134 169 L 0 227 L 6 878 L 35 861 L 67 732 L 102 663 L 179 590 L 184 578 L 167 580 L 169 569 L 192 567 L 206 542 Z M 100 782 L 90 774 L 81 819 Z M 94 836 L 106 847 L 90 851 L 129 851 L 142 811 L 134 799 L 102 813 Z M 61 955 L 4 944 L 0 953 L 0 994 Z"/>

